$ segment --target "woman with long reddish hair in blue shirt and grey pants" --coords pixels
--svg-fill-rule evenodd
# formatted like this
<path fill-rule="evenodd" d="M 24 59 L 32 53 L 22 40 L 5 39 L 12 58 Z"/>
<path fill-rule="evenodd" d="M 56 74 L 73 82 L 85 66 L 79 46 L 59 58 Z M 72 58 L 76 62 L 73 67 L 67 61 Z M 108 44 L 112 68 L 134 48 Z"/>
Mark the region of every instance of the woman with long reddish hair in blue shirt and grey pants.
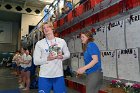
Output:
<path fill-rule="evenodd" d="M 90 31 L 80 34 L 84 52 L 85 66 L 77 70 L 77 74 L 87 74 L 86 93 L 98 93 L 102 85 L 103 73 L 101 69 L 100 50 L 93 42 L 93 33 Z"/>

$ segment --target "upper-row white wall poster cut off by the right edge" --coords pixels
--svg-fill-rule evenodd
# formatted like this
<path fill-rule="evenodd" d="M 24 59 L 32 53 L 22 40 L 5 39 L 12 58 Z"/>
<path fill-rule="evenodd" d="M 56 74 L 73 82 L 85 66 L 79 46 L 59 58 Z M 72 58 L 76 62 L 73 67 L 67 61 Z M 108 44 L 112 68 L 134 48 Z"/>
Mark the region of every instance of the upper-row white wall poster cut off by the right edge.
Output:
<path fill-rule="evenodd" d="M 125 22 L 127 48 L 140 47 L 140 13 L 131 14 Z"/>

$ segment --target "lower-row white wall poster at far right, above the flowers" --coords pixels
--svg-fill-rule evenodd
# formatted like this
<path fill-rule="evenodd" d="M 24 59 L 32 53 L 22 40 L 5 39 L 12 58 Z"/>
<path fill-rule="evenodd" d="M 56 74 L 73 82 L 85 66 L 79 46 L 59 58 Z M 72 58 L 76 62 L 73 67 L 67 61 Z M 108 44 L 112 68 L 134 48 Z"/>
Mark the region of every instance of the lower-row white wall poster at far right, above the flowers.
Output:
<path fill-rule="evenodd" d="M 118 78 L 140 82 L 139 48 L 117 50 Z"/>

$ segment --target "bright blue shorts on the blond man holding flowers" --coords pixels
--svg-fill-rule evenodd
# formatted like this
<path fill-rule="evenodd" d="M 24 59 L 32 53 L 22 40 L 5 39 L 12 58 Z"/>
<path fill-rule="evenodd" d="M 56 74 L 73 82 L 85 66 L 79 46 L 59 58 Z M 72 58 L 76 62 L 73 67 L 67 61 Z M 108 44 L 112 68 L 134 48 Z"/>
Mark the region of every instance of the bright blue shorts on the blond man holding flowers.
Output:
<path fill-rule="evenodd" d="M 38 93 L 50 93 L 51 90 L 53 90 L 54 93 L 66 93 L 66 86 L 63 76 L 56 78 L 39 77 L 38 85 Z"/>

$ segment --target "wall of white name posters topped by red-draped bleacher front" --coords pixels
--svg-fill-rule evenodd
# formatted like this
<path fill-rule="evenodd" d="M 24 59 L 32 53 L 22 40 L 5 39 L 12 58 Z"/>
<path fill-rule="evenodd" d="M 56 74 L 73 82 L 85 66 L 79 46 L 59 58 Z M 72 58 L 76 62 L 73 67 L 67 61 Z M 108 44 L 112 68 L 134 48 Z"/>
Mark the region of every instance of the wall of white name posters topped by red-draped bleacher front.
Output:
<path fill-rule="evenodd" d="M 54 22 L 56 31 L 68 43 L 72 71 L 84 65 L 79 33 L 91 30 L 101 50 L 105 79 L 140 82 L 140 1 L 92 1 Z"/>

